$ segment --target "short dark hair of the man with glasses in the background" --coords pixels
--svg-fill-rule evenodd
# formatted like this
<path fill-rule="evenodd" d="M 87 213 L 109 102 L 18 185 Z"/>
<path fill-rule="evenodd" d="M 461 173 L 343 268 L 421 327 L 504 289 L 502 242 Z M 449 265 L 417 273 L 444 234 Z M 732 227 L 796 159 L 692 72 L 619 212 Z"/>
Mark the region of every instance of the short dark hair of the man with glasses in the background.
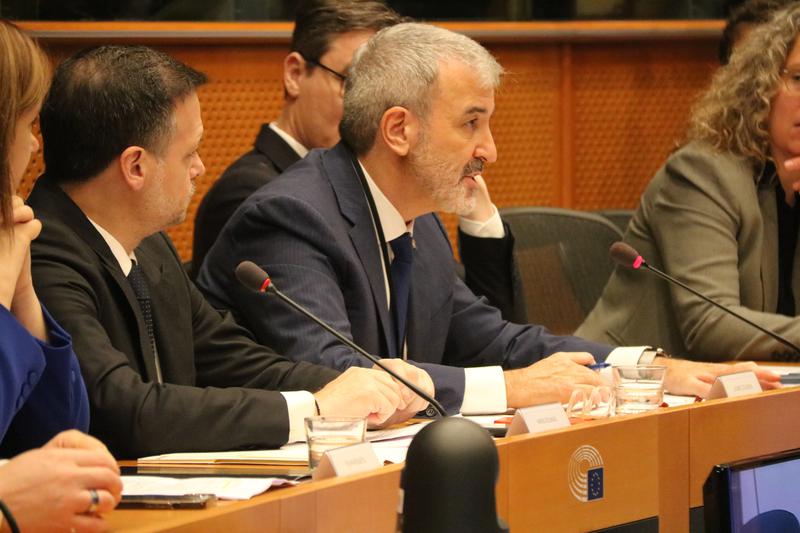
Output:
<path fill-rule="evenodd" d="M 292 52 L 319 61 L 342 33 L 379 31 L 408 19 L 374 0 L 305 0 L 295 12 Z M 314 67 L 309 65 L 309 69 Z"/>

